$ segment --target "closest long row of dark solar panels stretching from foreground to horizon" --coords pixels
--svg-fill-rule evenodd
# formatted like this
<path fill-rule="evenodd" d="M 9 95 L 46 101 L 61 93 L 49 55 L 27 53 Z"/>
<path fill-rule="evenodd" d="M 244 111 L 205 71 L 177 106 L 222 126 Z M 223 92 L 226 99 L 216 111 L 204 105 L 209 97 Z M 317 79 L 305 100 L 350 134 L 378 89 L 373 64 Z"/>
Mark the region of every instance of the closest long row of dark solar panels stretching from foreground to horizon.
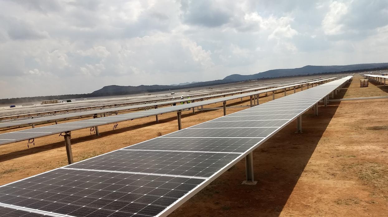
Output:
<path fill-rule="evenodd" d="M 0 213 L 166 216 L 350 78 L 1 186 Z M 294 99 L 303 108 L 293 114 L 236 115 L 280 111 L 272 106 Z"/>

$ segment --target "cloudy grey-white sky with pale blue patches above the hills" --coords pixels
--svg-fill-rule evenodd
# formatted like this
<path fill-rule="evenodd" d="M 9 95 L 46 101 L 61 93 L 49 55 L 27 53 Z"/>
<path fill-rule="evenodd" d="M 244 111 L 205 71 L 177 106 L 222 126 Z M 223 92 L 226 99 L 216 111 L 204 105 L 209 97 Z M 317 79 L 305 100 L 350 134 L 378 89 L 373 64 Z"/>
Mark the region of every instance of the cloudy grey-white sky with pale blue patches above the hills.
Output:
<path fill-rule="evenodd" d="M 386 0 L 0 0 L 0 98 L 387 61 Z"/>

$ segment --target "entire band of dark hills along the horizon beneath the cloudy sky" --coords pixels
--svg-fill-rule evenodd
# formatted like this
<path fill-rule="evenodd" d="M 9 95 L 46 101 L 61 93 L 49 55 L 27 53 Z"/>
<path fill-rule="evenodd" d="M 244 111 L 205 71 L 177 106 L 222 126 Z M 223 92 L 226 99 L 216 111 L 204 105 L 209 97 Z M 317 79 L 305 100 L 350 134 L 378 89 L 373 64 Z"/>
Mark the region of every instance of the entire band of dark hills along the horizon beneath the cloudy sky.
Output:
<path fill-rule="evenodd" d="M 85 97 L 100 97 L 100 96 L 120 96 L 127 94 L 137 94 L 146 92 L 158 92 L 158 91 L 171 91 L 178 89 L 188 89 L 194 87 L 206 87 L 211 85 L 229 84 L 240 82 L 244 80 L 258 80 L 258 79 L 270 79 L 274 77 L 293 77 L 303 75 L 324 75 L 326 73 L 336 72 L 362 72 L 373 70 L 385 70 L 388 69 L 388 63 L 365 63 L 354 65 L 333 65 L 333 66 L 313 66 L 307 65 L 301 68 L 292 69 L 273 69 L 265 72 L 256 73 L 253 75 L 229 75 L 222 80 L 212 80 L 206 82 L 186 82 L 178 85 L 140 85 L 140 86 L 118 86 L 109 85 L 105 86 L 97 91 L 88 94 L 67 94 L 67 95 L 55 95 L 55 96 L 37 96 L 37 97 L 19 97 L 11 99 L 0 99 L 0 104 L 11 103 L 28 103 L 34 101 L 51 100 L 51 99 L 73 99 L 73 98 L 85 98 Z"/>

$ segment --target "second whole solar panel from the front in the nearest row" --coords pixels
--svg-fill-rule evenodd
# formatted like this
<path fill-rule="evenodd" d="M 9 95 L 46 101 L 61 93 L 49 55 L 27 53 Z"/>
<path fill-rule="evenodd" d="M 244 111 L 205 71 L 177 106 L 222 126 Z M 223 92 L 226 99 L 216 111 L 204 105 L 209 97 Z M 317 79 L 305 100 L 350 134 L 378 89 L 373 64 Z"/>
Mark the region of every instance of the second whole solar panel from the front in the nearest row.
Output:
<path fill-rule="evenodd" d="M 121 149 L 65 168 L 208 178 L 239 155 Z"/>

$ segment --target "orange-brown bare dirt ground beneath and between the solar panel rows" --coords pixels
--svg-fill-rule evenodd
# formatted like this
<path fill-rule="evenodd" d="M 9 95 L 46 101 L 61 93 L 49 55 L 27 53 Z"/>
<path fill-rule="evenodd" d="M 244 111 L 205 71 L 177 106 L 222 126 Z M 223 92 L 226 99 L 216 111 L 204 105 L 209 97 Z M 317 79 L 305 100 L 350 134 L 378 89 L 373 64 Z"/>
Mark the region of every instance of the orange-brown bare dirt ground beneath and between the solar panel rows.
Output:
<path fill-rule="evenodd" d="M 360 88 L 356 76 L 336 98 L 388 96 L 388 86 Z M 300 89 L 298 89 L 300 91 Z M 289 94 L 293 91 L 288 91 Z M 279 92 L 276 98 L 284 96 Z M 262 96 L 260 103 L 272 100 Z M 248 105 L 249 98 L 228 102 Z M 178 216 L 388 216 L 388 99 L 341 101 L 303 114 L 303 133 L 291 123 L 253 152 L 257 185 L 241 185 L 244 160 L 180 206 Z M 205 106 L 214 108 L 222 104 Z M 246 107 L 228 108 L 233 113 Z M 182 115 L 183 127 L 222 116 L 222 110 Z M 68 121 L 64 121 L 68 122 Z M 72 132 L 74 161 L 80 161 L 177 130 L 176 114 Z M 17 129 L 17 130 L 20 130 Z M 8 131 L 2 131 L 9 132 Z M 62 137 L 52 135 L 0 148 L 0 185 L 67 164 Z"/>

